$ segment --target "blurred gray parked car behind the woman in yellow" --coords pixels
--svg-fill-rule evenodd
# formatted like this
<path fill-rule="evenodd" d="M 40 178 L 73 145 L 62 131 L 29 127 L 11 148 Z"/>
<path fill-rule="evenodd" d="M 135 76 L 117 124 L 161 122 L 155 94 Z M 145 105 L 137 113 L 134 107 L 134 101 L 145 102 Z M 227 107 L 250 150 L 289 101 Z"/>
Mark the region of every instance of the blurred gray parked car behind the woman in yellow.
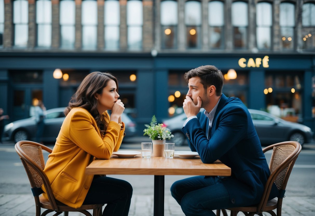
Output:
<path fill-rule="evenodd" d="M 66 107 L 54 108 L 46 111 L 44 119 L 43 142 L 55 142 L 59 134 L 65 114 Z M 122 121 L 126 125 L 126 137 L 136 135 L 136 123 L 127 114 L 122 114 Z M 4 127 L 3 140 L 12 140 L 15 143 L 20 140 L 34 140 L 37 130 L 35 117 L 21 119 L 11 122 Z"/>

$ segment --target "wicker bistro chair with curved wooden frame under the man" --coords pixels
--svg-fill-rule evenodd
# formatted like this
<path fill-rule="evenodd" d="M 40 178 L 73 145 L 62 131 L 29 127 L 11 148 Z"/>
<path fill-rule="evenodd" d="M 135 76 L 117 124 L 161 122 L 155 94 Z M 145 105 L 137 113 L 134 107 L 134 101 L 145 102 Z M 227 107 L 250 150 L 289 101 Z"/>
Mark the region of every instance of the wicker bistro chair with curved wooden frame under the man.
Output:
<path fill-rule="evenodd" d="M 300 143 L 296 141 L 286 141 L 267 146 L 262 151 L 265 153 L 271 149 L 273 150 L 269 164 L 271 174 L 266 182 L 265 190 L 260 203 L 247 207 L 228 208 L 228 210 L 231 210 L 231 216 L 236 216 L 238 212 L 243 212 L 244 215 L 249 216 L 254 214 L 263 216 L 262 212 L 267 212 L 272 216 L 281 216 L 282 200 L 285 197 L 285 188 L 294 163 L 300 154 L 302 147 Z M 278 198 L 268 201 L 273 182 L 278 188 L 279 196 Z M 277 213 L 272 211 L 274 209 L 277 209 Z M 223 215 L 227 216 L 226 210 L 221 210 Z M 217 216 L 220 216 L 220 209 L 217 210 Z"/>

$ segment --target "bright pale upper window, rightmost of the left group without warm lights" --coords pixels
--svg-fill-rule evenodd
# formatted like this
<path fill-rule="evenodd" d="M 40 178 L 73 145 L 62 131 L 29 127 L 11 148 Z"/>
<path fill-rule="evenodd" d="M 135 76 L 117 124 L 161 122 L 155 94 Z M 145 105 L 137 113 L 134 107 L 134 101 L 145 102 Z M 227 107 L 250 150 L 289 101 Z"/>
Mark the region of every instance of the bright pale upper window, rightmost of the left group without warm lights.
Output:
<path fill-rule="evenodd" d="M 130 50 L 140 50 L 142 48 L 142 25 L 142 1 L 127 1 L 127 43 Z"/>

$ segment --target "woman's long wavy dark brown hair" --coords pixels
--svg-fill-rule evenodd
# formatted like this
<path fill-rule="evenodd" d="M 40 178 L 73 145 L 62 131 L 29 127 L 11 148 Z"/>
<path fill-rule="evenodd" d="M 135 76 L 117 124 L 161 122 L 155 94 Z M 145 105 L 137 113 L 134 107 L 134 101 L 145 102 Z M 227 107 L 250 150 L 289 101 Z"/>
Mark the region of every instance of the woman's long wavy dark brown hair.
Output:
<path fill-rule="evenodd" d="M 114 80 L 116 82 L 118 90 L 116 77 L 108 73 L 108 71 L 105 73 L 96 71 L 88 74 L 81 82 L 77 92 L 72 96 L 69 105 L 65 109 L 65 115 L 68 115 L 73 107 L 82 107 L 91 113 L 100 129 L 100 132 L 105 134 L 107 123 L 104 119 L 105 116 L 97 110 L 95 93 L 102 94 L 103 88 L 107 86 L 107 83 L 110 80 Z"/>

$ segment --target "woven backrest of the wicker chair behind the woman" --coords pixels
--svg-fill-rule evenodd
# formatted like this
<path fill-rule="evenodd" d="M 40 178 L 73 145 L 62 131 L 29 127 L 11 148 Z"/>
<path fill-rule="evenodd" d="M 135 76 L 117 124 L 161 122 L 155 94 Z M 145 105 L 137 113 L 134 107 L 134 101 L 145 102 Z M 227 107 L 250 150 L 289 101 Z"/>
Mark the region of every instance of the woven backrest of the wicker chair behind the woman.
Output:
<path fill-rule="evenodd" d="M 37 197 L 35 198 L 35 202 L 39 202 L 38 196 L 43 193 L 41 187 L 44 185 L 51 206 L 54 208 L 54 210 L 58 211 L 56 200 L 50 187 L 49 179 L 43 172 L 45 168 L 45 162 L 42 150 L 45 150 L 49 153 L 52 152 L 52 149 L 49 147 L 32 141 L 22 140 L 15 144 L 15 151 L 20 156 L 22 164 L 25 168 L 27 177 L 31 184 L 33 195 L 34 197 Z"/>

